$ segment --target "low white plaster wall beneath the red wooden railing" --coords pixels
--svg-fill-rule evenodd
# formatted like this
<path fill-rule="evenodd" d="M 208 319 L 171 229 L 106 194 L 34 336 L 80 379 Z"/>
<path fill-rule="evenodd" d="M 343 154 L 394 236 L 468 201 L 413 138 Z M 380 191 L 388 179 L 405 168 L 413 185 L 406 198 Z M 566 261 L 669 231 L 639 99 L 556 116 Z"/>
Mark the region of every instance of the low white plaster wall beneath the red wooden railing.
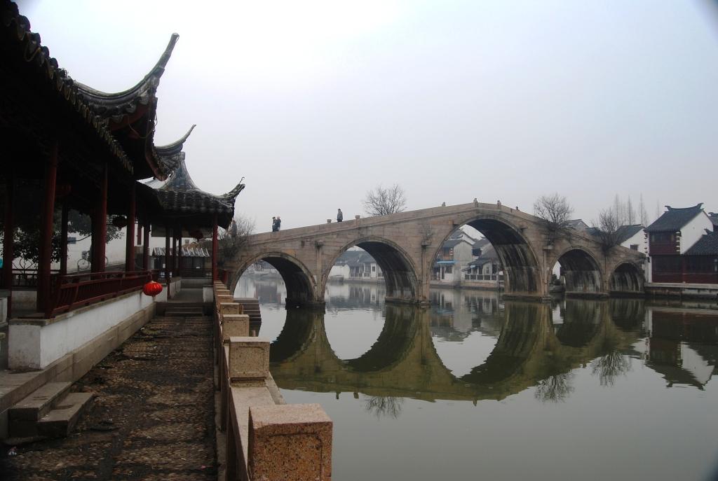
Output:
<path fill-rule="evenodd" d="M 133 292 L 59 315 L 47 325 L 11 323 L 9 366 L 11 369 L 43 369 L 151 303 L 164 300 L 167 300 L 164 290 L 154 299 L 142 292 Z"/>

